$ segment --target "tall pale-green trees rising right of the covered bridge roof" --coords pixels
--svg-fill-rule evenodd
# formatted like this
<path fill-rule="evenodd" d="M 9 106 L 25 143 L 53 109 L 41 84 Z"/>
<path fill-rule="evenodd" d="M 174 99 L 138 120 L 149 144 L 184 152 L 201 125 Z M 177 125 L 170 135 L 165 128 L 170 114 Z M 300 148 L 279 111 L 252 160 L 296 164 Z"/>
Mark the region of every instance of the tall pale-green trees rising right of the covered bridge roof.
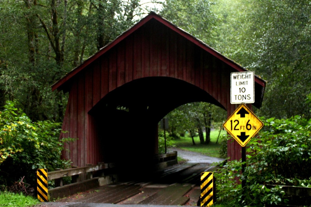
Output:
<path fill-rule="evenodd" d="M 309 1 L 218 0 L 215 47 L 266 79 L 258 114 L 311 117 L 304 102 L 310 93 Z"/>

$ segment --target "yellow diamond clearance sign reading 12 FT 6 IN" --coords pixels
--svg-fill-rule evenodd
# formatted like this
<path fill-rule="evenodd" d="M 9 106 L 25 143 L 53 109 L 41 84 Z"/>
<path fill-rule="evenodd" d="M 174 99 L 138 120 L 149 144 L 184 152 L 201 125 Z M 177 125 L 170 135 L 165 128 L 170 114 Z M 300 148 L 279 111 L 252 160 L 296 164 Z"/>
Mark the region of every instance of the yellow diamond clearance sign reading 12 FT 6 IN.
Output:
<path fill-rule="evenodd" d="M 242 147 L 245 147 L 249 140 L 262 128 L 263 123 L 242 103 L 223 126 Z"/>

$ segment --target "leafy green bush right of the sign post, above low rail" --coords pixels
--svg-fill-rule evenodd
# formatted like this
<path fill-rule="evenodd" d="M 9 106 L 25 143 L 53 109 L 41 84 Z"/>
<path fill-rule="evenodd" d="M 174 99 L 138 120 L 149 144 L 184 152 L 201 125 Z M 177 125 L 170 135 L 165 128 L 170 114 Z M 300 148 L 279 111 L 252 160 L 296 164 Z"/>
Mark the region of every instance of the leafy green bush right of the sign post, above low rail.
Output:
<path fill-rule="evenodd" d="M 301 116 L 265 120 L 264 130 L 248 148 L 249 174 L 256 173 L 261 182 L 310 185 L 310 135 L 311 120 Z"/>

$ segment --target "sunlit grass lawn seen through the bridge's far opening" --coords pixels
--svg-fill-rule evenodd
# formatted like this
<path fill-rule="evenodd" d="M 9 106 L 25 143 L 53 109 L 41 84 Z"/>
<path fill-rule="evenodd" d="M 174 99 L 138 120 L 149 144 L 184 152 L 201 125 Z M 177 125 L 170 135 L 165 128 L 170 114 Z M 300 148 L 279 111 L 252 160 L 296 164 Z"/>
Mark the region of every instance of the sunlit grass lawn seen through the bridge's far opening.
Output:
<path fill-rule="evenodd" d="M 191 152 L 199 152 L 207 156 L 211 157 L 220 157 L 219 155 L 219 148 L 220 148 L 220 140 L 218 140 L 218 143 L 216 144 L 216 140 L 219 134 L 219 130 L 212 130 L 211 131 L 211 143 L 208 145 L 206 144 L 200 144 L 199 136 L 194 137 L 194 142 L 196 145 L 192 144 L 191 137 L 188 137 L 186 135 L 185 137 L 181 137 L 180 139 L 174 139 L 172 140 L 172 144 L 176 145 L 177 148 L 188 150 Z M 221 130 L 221 134 L 227 134 L 225 130 Z M 204 139 L 205 139 L 205 133 L 204 133 Z"/>

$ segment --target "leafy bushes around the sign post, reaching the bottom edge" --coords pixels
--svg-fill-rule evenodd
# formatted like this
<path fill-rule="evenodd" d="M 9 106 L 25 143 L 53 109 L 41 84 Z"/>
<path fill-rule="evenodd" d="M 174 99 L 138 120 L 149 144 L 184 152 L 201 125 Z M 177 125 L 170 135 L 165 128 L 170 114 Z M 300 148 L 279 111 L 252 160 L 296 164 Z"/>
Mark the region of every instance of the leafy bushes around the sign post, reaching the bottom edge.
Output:
<path fill-rule="evenodd" d="M 263 206 L 286 203 L 281 187 L 267 184 L 311 186 L 311 120 L 262 118 L 264 128 L 247 145 L 244 174 L 241 161 L 228 161 L 215 173 L 218 203 Z M 246 178 L 243 189 L 242 179 Z"/>

